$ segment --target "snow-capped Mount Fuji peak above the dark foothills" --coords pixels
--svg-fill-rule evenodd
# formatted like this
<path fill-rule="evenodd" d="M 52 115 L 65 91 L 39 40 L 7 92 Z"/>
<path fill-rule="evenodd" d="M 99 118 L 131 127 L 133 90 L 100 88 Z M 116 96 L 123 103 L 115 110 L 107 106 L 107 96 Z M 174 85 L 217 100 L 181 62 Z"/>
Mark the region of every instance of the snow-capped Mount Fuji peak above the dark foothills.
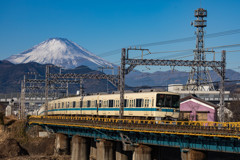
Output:
<path fill-rule="evenodd" d="M 54 64 L 66 69 L 81 65 L 91 69 L 114 67 L 114 65 L 65 38 L 50 38 L 20 54 L 12 55 L 6 60 L 19 64 L 37 62 Z"/>

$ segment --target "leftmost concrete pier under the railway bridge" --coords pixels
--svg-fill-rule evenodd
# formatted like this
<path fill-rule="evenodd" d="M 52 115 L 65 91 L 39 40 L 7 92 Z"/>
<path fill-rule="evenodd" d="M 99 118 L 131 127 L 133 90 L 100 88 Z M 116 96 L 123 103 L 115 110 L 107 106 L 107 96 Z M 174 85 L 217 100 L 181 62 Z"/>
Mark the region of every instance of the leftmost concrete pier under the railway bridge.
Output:
<path fill-rule="evenodd" d="M 57 133 L 55 139 L 55 154 L 69 154 L 70 143 L 67 135 Z"/>

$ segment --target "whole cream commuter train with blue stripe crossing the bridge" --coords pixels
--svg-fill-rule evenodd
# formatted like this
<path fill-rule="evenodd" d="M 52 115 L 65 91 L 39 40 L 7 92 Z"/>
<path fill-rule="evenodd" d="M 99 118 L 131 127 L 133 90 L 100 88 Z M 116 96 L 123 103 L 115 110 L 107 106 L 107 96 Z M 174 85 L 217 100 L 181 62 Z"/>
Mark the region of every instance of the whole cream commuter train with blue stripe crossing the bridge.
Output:
<path fill-rule="evenodd" d="M 123 116 L 135 119 L 177 119 L 180 96 L 170 92 L 132 92 L 124 94 Z M 56 99 L 42 105 L 38 114 L 118 117 L 120 94 L 96 94 Z"/>

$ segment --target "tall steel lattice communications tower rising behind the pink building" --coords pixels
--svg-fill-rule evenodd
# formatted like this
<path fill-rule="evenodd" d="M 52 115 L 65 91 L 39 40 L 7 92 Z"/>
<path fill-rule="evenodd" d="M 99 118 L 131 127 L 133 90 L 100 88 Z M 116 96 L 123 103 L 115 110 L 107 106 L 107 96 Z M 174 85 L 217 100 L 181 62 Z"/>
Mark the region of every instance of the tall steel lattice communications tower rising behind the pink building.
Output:
<path fill-rule="evenodd" d="M 196 49 L 194 50 L 194 61 L 206 61 L 206 52 L 213 52 L 204 49 L 204 27 L 207 26 L 207 10 L 198 8 L 194 12 L 197 18 L 192 25 L 197 28 L 196 34 Z M 187 81 L 188 90 L 214 90 L 212 79 L 206 66 L 192 67 Z M 204 85 L 201 85 L 204 84 Z"/>

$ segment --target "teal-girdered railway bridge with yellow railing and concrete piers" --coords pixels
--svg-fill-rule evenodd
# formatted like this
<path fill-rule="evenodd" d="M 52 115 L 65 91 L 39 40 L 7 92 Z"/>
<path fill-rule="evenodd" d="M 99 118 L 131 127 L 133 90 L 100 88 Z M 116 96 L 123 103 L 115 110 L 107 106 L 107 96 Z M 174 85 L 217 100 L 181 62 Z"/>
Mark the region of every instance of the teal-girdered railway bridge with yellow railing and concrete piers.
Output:
<path fill-rule="evenodd" d="M 179 148 L 182 160 L 205 159 L 206 151 L 240 153 L 239 122 L 31 116 L 28 124 L 56 133 L 56 154 L 71 148 L 73 160 L 161 160 L 160 146 Z"/>

